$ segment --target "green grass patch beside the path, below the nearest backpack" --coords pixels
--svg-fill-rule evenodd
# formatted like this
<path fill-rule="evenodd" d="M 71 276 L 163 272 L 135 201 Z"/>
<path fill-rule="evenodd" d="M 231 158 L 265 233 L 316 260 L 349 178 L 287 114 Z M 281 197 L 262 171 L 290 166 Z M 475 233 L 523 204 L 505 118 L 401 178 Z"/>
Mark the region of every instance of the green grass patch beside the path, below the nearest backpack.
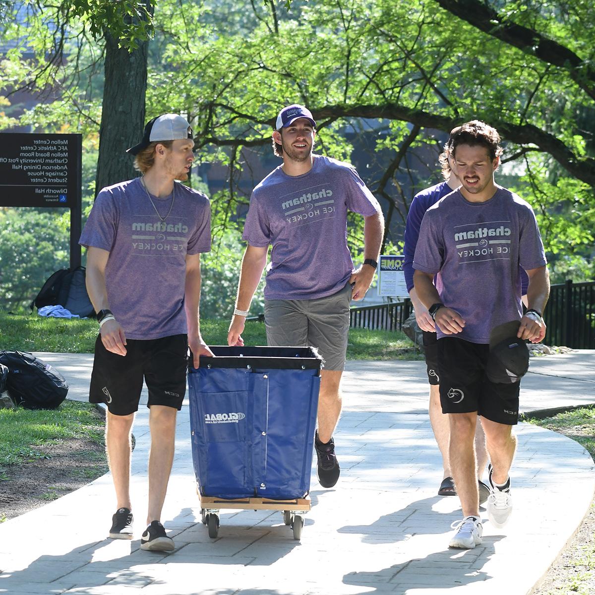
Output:
<path fill-rule="evenodd" d="M 104 421 L 90 403 L 65 400 L 58 409 L 0 409 L 0 471 L 43 458 L 45 446 L 71 438 L 102 444 Z"/>

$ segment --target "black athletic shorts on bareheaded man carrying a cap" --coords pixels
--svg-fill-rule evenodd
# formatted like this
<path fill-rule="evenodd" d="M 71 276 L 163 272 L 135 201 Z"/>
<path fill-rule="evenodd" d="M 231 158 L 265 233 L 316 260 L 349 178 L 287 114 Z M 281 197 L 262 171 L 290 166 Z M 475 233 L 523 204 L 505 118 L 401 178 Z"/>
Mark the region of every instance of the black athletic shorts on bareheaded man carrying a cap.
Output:
<path fill-rule="evenodd" d="M 469 413 L 516 425 L 520 382 L 500 384 L 486 376 L 490 346 L 456 337 L 438 339 L 440 404 L 443 413 Z"/>

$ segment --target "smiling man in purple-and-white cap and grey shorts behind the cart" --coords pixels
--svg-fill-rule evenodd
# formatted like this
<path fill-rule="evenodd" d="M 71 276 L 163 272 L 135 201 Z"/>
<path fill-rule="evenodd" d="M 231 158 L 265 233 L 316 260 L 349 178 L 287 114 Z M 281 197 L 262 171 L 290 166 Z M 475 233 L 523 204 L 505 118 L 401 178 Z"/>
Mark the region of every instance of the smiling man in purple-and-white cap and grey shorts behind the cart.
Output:
<path fill-rule="evenodd" d="M 283 164 L 252 192 L 242 238 L 248 242 L 227 341 L 243 345 L 250 301 L 267 264 L 268 345 L 314 346 L 324 359 L 315 450 L 322 487 L 333 487 L 340 466 L 333 432 L 341 413 L 339 385 L 349 330 L 350 300 L 368 290 L 384 232 L 380 205 L 352 165 L 314 155 L 316 122 L 303 105 L 281 109 L 273 150 Z M 347 211 L 364 217 L 364 264 L 347 248 Z"/>

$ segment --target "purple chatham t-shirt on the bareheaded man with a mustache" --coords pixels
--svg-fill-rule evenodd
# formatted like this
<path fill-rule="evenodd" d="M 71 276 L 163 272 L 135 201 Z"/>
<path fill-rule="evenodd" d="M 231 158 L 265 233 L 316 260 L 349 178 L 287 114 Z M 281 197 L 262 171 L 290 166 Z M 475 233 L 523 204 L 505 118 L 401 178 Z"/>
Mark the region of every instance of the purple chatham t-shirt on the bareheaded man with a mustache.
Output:
<path fill-rule="evenodd" d="M 486 202 L 468 202 L 459 190 L 425 214 L 414 268 L 437 274 L 440 301 L 459 312 L 465 328 L 456 335 L 489 343 L 490 330 L 520 320 L 521 275 L 546 264 L 531 206 L 500 186 Z"/>

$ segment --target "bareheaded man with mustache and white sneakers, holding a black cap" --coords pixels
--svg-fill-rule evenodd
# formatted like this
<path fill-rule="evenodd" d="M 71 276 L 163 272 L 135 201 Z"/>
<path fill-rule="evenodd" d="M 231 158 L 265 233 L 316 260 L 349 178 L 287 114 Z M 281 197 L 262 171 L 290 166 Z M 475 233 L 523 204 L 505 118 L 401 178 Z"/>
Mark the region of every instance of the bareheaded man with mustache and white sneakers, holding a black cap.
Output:
<path fill-rule="evenodd" d="M 546 332 L 543 243 L 531 206 L 494 183 L 499 143 L 497 131 L 477 120 L 452 134 L 461 187 L 425 213 L 413 263 L 415 291 L 436 323 L 440 402 L 449 414 L 450 468 L 463 513 L 450 547 L 463 549 L 480 544 L 483 534 L 473 447 L 477 415 L 491 462 L 488 519 L 501 528 L 512 513 L 508 473 L 526 342 L 537 343 Z M 529 278 L 525 314 L 521 268 Z"/>

